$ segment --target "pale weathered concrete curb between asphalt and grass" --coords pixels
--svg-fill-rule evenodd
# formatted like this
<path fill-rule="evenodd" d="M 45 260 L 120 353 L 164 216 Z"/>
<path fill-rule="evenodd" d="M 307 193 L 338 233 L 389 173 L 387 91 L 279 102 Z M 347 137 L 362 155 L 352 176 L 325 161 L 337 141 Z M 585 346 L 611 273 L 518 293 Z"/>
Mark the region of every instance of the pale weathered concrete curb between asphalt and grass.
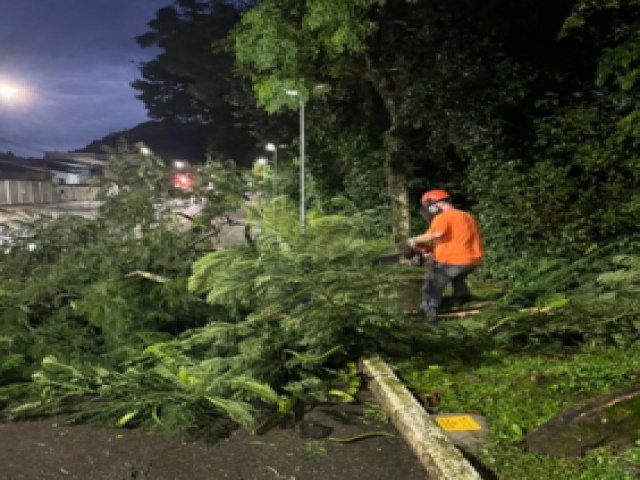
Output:
<path fill-rule="evenodd" d="M 418 457 L 430 480 L 481 480 L 462 453 L 379 357 L 361 361 L 369 389 Z"/>

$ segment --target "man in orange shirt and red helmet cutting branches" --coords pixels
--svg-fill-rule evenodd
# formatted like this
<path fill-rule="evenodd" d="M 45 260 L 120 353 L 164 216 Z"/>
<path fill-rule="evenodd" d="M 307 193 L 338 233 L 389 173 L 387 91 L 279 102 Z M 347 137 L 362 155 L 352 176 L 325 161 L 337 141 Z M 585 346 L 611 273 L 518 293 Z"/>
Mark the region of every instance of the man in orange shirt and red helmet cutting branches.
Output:
<path fill-rule="evenodd" d="M 447 284 L 453 287 L 454 306 L 471 300 L 467 276 L 482 263 L 483 245 L 476 219 L 451 203 L 444 190 L 429 190 L 420 199 L 421 214 L 431 223 L 422 235 L 408 240 L 410 247 L 433 244 L 433 262 L 422 287 L 420 309 L 436 322 L 438 307 Z"/>

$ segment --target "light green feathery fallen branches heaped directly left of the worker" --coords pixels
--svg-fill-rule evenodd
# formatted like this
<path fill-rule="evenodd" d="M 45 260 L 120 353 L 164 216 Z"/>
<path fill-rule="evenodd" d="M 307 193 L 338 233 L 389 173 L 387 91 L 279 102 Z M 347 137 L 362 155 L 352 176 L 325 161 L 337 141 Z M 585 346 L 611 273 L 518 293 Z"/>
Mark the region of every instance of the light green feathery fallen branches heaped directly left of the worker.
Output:
<path fill-rule="evenodd" d="M 215 252 L 194 264 L 192 291 L 248 314 L 234 328 L 235 343 L 262 371 L 257 378 L 292 369 L 301 375 L 296 392 L 312 390 L 322 386 L 314 377 L 322 363 L 311 359 L 357 358 L 401 341 L 393 299 L 402 274 L 373 266 L 384 245 L 363 238 L 361 223 L 311 215 L 301 235 L 296 209 L 279 198 L 263 211 L 253 248 Z"/>

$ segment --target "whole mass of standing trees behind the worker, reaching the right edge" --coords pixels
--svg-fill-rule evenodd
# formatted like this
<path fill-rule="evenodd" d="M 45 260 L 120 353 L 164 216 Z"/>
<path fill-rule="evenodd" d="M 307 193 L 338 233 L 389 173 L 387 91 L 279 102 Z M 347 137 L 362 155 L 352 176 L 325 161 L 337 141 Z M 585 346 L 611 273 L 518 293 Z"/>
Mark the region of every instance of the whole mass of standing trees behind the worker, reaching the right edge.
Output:
<path fill-rule="evenodd" d="M 159 117 L 241 119 L 290 147 L 296 89 L 312 203 L 392 205 L 401 238 L 420 191 L 443 187 L 475 206 L 493 258 L 577 254 L 637 223 L 639 11 L 637 0 L 184 0 L 140 38 L 161 53 L 137 87 Z"/>

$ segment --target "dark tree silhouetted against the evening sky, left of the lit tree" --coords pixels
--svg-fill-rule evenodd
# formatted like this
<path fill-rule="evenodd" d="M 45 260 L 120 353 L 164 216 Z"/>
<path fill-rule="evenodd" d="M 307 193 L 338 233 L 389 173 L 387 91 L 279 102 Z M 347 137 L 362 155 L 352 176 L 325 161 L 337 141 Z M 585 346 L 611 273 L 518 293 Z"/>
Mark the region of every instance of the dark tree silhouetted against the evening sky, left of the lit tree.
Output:
<path fill-rule="evenodd" d="M 238 116 L 250 97 L 225 48 L 239 8 L 223 0 L 180 0 L 160 9 L 150 31 L 137 39 L 160 53 L 141 65 L 142 79 L 133 87 L 152 118 L 208 124 L 209 152 L 248 164 L 255 140 Z"/>

